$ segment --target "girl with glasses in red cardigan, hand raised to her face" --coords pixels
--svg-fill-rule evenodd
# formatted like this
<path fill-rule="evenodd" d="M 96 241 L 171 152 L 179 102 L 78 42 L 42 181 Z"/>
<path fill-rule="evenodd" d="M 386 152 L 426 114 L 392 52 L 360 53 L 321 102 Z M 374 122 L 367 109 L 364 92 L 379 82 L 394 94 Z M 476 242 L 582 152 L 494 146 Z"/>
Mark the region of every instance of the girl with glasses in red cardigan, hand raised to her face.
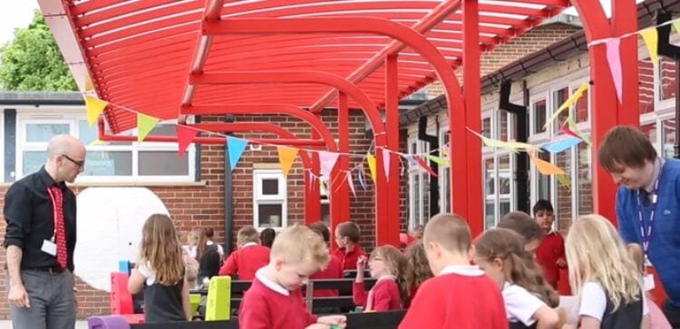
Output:
<path fill-rule="evenodd" d="M 408 263 L 402 252 L 393 246 L 376 247 L 368 259 L 371 277 L 376 279 L 374 287 L 366 295 L 364 269 L 366 258 L 356 263 L 356 279 L 352 288 L 355 305 L 364 311 L 392 311 L 403 307 L 409 301 L 409 286 L 406 283 Z"/>

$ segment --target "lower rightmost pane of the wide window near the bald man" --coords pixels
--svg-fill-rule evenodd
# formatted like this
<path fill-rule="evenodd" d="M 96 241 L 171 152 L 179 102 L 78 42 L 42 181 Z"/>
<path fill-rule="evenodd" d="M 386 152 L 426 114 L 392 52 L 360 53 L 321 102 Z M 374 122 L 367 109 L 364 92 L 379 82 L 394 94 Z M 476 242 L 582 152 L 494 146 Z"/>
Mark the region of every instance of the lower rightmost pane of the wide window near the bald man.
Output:
<path fill-rule="evenodd" d="M 141 151 L 139 153 L 140 176 L 186 176 L 189 175 L 189 157 L 180 158 L 177 151 Z"/>

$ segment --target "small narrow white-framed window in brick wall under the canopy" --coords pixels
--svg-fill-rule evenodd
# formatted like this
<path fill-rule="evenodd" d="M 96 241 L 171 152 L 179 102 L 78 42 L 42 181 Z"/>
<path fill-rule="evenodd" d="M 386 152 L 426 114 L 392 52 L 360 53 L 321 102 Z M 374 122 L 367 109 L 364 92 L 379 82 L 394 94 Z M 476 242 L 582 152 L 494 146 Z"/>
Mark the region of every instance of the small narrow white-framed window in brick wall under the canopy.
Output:
<path fill-rule="evenodd" d="M 253 226 L 287 227 L 287 185 L 280 169 L 253 170 Z"/>

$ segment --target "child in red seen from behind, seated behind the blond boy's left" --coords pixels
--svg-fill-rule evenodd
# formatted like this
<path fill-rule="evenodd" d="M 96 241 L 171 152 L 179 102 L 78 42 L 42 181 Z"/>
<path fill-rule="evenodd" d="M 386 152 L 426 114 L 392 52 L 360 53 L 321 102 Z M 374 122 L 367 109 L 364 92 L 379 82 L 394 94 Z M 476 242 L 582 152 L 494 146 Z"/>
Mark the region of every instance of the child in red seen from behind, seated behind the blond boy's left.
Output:
<path fill-rule="evenodd" d="M 238 230 L 237 245 L 238 250 L 231 253 L 227 262 L 219 268 L 219 275 L 238 274 L 240 280 L 252 280 L 257 269 L 269 263 L 269 248 L 259 245 L 257 229 L 251 226 Z"/>

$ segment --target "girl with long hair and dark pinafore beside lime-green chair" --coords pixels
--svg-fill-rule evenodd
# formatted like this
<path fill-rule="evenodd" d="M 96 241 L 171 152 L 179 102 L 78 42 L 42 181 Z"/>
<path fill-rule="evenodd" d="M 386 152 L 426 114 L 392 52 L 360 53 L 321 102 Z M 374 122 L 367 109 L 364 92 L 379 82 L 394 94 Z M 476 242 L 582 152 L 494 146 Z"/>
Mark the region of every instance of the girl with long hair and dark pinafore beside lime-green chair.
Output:
<path fill-rule="evenodd" d="M 167 215 L 151 215 L 141 229 L 140 259 L 132 270 L 128 290 L 137 294 L 142 288 L 145 322 L 190 319 L 189 283 L 182 248 Z"/>

